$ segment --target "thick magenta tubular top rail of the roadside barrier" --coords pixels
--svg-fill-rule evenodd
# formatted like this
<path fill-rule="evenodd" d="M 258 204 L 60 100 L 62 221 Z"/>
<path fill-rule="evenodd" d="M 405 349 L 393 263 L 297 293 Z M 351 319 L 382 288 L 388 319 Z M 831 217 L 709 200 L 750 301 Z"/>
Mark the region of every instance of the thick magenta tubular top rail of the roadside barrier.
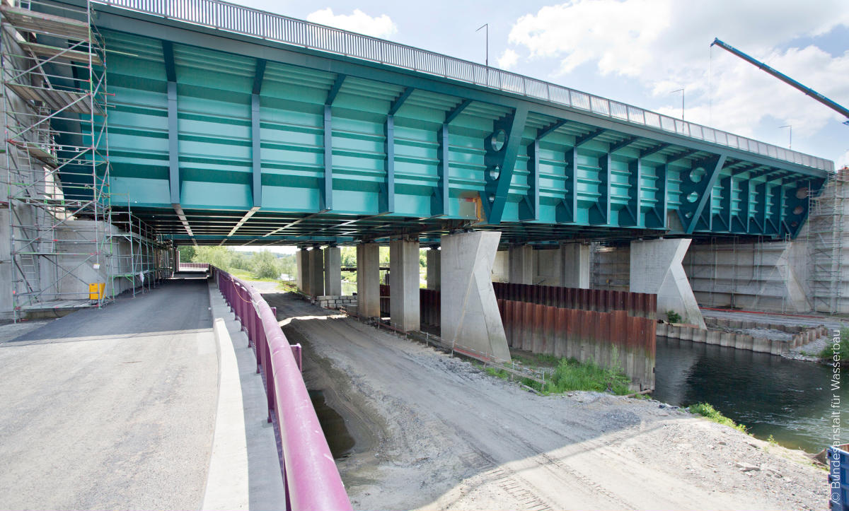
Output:
<path fill-rule="evenodd" d="M 242 300 L 235 287 L 239 285 L 245 289 L 246 293 L 242 294 L 252 302 L 245 302 L 245 305 L 256 307 L 253 313 L 258 314 L 265 334 L 263 344 L 267 344 L 270 353 L 270 373 L 273 379 L 273 388 L 269 389 L 271 392 L 268 397 L 273 397 L 274 412 L 277 413 L 280 428 L 289 508 L 293 511 L 350 511 L 351 501 L 339 470 L 336 469 L 333 455 L 330 454 L 321 424 L 318 423 L 292 347 L 280 329 L 277 316 L 256 289 L 218 271 L 231 279 L 237 295 L 235 300 Z"/>

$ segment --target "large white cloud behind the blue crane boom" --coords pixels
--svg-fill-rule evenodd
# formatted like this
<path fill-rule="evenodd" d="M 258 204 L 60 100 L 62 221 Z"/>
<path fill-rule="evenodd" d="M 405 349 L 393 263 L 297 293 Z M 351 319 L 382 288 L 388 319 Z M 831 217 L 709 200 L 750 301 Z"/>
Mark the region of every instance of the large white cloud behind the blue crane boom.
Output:
<path fill-rule="evenodd" d="M 532 59 L 557 59 L 559 76 L 595 65 L 607 79 L 636 81 L 664 98 L 668 115 L 681 115 L 671 92 L 686 87 L 689 121 L 742 135 L 777 122 L 778 143 L 785 139 L 778 126 L 792 124 L 802 138 L 841 116 L 721 48 L 712 49 L 711 72 L 709 44 L 718 36 L 840 103 L 849 98 L 849 82 L 837 78 L 849 75 L 849 52 L 778 49 L 838 25 L 849 26 L 845 0 L 572 0 L 520 17 L 509 42 Z"/>

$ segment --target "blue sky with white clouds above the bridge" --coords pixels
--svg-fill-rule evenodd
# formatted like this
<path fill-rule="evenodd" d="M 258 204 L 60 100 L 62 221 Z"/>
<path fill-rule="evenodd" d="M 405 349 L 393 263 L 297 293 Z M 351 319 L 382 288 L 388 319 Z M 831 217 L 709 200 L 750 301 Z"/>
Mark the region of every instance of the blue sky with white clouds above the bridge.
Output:
<path fill-rule="evenodd" d="M 849 166 L 841 115 L 714 37 L 849 106 L 846 0 L 235 0 L 489 64 Z M 792 126 L 782 127 L 782 126 Z M 792 139 L 791 139 L 792 138 Z"/>

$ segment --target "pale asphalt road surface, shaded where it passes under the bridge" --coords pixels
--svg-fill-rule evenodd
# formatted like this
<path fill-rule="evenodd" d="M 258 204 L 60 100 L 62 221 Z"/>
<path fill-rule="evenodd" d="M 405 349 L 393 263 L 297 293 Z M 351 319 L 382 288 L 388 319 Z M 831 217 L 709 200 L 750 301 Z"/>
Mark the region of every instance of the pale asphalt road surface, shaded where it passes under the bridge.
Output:
<path fill-rule="evenodd" d="M 205 279 L 0 343 L 0 508 L 200 508 L 216 396 Z"/>

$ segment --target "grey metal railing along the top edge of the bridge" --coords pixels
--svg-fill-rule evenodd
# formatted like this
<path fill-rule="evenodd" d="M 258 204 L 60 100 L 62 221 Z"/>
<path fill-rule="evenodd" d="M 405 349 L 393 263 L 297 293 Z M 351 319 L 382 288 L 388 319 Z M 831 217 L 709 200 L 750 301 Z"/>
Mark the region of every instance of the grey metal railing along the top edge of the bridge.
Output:
<path fill-rule="evenodd" d="M 668 115 L 644 110 L 630 104 L 582 93 L 569 87 L 537 80 L 509 71 L 455 59 L 441 53 L 413 48 L 397 42 L 363 36 L 281 14 L 244 7 L 222 0 L 93 0 L 163 18 L 185 21 L 216 30 L 256 36 L 274 42 L 284 42 L 302 48 L 369 60 L 430 75 L 450 78 L 527 98 L 543 99 L 553 104 L 586 110 L 639 126 L 649 126 L 683 137 L 717 143 L 729 148 L 762 154 L 777 160 L 802 166 L 834 171 L 831 160 L 784 149 L 751 138 L 740 137 L 708 126 L 683 121 Z"/>

